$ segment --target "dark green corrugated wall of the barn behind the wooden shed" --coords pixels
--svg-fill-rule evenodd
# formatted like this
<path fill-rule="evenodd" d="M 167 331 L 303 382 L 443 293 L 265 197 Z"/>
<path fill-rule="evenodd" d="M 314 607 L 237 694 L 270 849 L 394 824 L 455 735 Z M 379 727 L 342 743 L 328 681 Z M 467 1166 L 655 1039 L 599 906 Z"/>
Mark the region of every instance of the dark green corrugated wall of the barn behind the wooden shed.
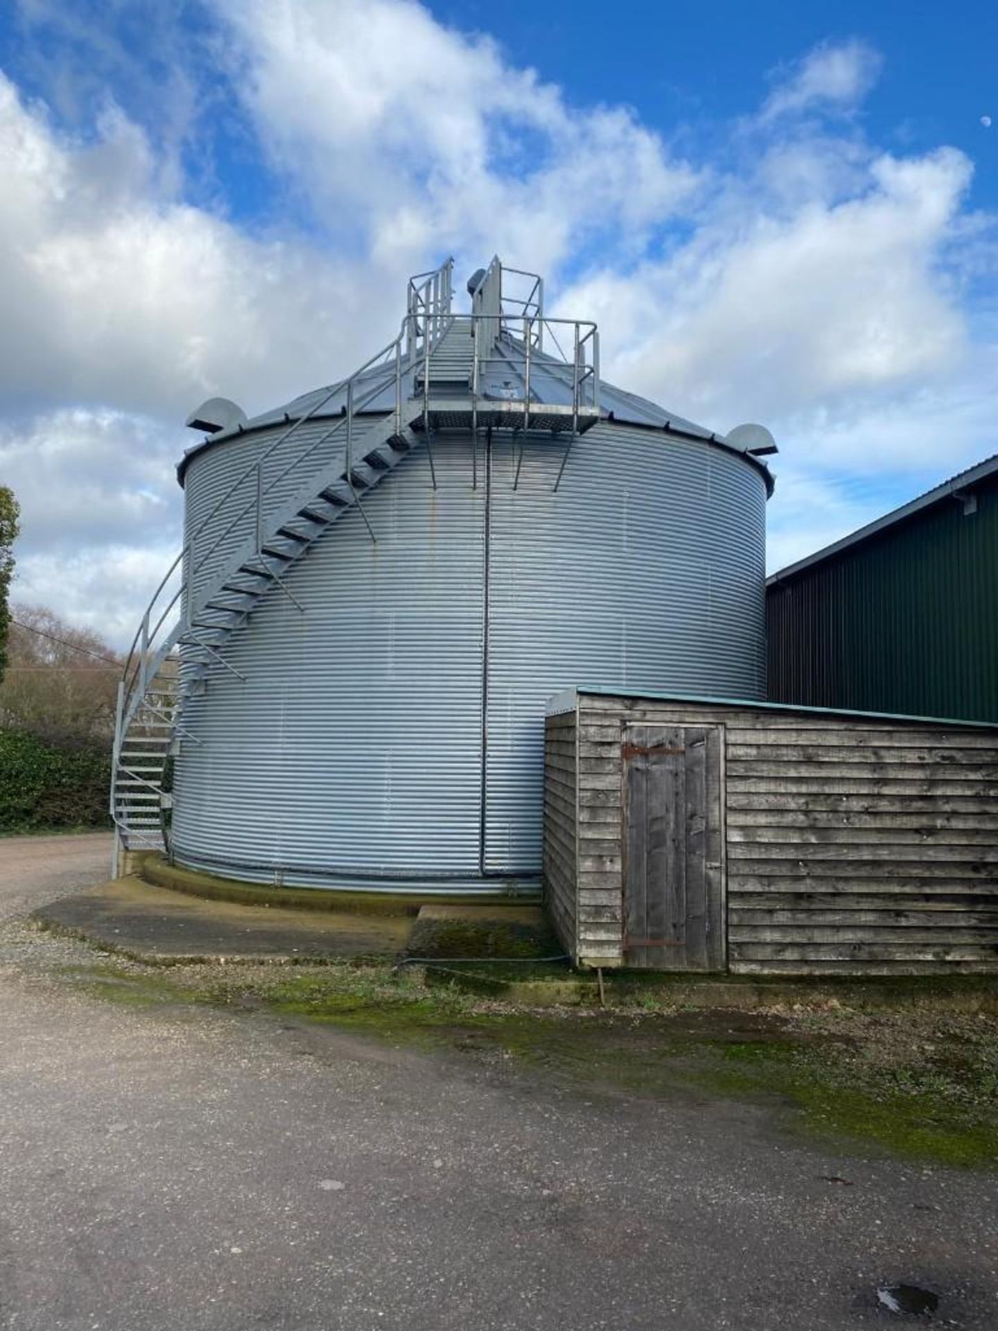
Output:
<path fill-rule="evenodd" d="M 998 483 L 975 492 L 769 587 L 773 701 L 998 721 Z"/>

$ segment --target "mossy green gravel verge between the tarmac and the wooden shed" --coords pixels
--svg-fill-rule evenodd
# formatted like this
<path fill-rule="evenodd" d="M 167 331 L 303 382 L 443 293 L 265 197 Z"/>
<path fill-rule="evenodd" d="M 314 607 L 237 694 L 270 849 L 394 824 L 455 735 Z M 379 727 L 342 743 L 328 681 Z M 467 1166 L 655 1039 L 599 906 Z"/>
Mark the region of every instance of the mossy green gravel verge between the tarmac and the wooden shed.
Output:
<path fill-rule="evenodd" d="M 605 1013 L 515 1010 L 427 985 L 414 968 L 342 961 L 174 968 L 169 980 L 101 964 L 69 978 L 136 1008 L 262 1009 L 450 1057 L 514 1059 L 587 1097 L 757 1101 L 788 1131 L 836 1149 L 998 1163 L 998 1022 L 982 1014 L 857 1012 L 836 1000 L 754 1013 L 640 1002 Z"/>

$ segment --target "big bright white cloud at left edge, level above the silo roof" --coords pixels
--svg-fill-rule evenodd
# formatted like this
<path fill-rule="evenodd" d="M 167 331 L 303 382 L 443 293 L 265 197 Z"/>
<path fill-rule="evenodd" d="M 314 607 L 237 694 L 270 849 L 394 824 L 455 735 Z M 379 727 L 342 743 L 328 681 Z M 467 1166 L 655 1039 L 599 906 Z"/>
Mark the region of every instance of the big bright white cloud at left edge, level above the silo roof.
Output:
<path fill-rule="evenodd" d="M 263 409 L 331 379 L 355 337 L 395 331 L 346 261 L 164 196 L 120 110 L 77 142 L 0 73 L 0 166 L 8 397 L 174 421 L 216 393 Z"/>

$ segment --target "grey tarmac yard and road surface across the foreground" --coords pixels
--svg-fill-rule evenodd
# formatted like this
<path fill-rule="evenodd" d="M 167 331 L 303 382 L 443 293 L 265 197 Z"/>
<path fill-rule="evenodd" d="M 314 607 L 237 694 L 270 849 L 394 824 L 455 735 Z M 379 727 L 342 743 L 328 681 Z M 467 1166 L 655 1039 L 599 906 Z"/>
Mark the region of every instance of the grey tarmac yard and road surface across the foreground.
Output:
<path fill-rule="evenodd" d="M 994 1177 L 45 980 L 9 921 L 106 856 L 0 841 L 0 1327 L 825 1331 L 901 1280 L 998 1327 Z"/>

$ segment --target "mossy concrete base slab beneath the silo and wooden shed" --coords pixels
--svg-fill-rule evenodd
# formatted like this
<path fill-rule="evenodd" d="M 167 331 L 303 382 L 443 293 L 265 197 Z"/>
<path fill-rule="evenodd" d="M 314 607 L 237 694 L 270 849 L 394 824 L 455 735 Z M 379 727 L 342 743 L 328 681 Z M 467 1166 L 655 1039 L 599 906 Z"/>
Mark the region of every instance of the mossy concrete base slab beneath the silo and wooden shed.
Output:
<path fill-rule="evenodd" d="M 36 910 L 35 917 L 49 928 L 153 965 L 220 958 L 409 962 L 411 956 L 413 961 L 426 960 L 426 978 L 434 985 L 455 985 L 528 1006 L 595 1006 L 600 1001 L 595 972 L 572 972 L 563 962 L 544 960 L 558 949 L 548 941 L 536 906 L 480 901 L 420 905 L 411 898 L 370 896 L 345 900 L 335 892 L 257 888 L 226 880 L 209 880 L 206 886 L 213 894 L 205 897 L 194 894 L 205 885 L 205 874 L 173 869 L 161 856 L 140 857 L 138 868 L 141 877 L 128 874 L 63 897 Z M 230 892 L 234 900 L 226 896 Z M 487 934 L 491 952 L 460 960 L 454 954 L 451 930 L 460 938 L 470 932 Z M 508 946 L 496 944 L 498 932 L 506 933 Z M 446 949 L 444 954 L 435 952 L 440 937 L 451 938 L 450 954 Z M 749 1010 L 840 1005 L 998 1013 L 998 986 L 981 976 L 764 980 L 608 972 L 603 990 L 608 1006 Z"/>

